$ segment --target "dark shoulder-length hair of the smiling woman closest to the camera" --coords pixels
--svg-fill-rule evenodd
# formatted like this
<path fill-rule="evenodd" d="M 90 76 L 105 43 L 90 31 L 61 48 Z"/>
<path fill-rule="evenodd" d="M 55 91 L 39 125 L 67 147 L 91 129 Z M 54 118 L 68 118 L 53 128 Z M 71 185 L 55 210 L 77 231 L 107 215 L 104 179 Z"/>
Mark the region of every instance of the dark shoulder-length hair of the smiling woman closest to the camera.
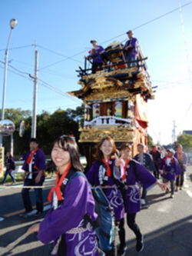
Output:
<path fill-rule="evenodd" d="M 55 144 L 58 145 L 59 148 L 62 148 L 64 151 L 68 151 L 70 158 L 71 158 L 71 165 L 74 168 L 74 171 L 84 171 L 83 165 L 81 165 L 80 158 L 79 158 L 79 150 L 78 145 L 74 141 L 73 138 L 63 135 L 57 138 L 52 145 L 51 151 L 54 148 Z M 53 161 L 52 161 L 53 163 Z M 51 165 L 51 163 L 50 163 Z M 49 165 L 49 167 L 50 167 Z M 54 164 L 55 165 L 55 164 Z"/>

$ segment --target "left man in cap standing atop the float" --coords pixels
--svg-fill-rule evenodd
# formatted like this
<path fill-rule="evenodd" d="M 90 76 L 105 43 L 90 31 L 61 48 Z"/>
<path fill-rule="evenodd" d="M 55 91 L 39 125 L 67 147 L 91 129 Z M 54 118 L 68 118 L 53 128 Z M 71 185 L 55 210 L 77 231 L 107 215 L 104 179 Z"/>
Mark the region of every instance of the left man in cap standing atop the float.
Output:
<path fill-rule="evenodd" d="M 93 49 L 89 52 L 91 57 L 88 56 L 89 60 L 93 60 L 92 64 L 92 74 L 96 73 L 96 69 L 98 67 L 102 67 L 103 60 L 101 57 L 101 54 L 104 52 L 104 48 L 101 45 L 98 45 L 98 42 L 96 40 L 91 40 L 91 44 L 93 45 Z M 96 55 L 95 57 L 93 55 Z"/>

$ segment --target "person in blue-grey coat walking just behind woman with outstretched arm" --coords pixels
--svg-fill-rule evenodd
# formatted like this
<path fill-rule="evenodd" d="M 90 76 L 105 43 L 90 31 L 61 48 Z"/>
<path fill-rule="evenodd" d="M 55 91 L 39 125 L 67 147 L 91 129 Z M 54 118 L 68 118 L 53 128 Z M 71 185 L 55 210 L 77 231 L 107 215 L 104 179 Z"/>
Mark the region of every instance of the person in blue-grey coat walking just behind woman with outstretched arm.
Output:
<path fill-rule="evenodd" d="M 139 143 L 137 145 L 137 151 L 139 152 L 139 154 L 134 156 L 134 160 L 140 162 L 141 165 L 144 165 L 144 167 L 148 171 L 155 171 L 153 158 L 151 157 L 151 155 L 144 152 L 143 144 Z M 143 187 L 143 191 L 142 191 L 142 195 L 141 195 L 141 204 L 144 205 L 145 198 L 147 195 L 147 190 L 144 188 L 143 185 L 142 185 L 142 187 Z"/>

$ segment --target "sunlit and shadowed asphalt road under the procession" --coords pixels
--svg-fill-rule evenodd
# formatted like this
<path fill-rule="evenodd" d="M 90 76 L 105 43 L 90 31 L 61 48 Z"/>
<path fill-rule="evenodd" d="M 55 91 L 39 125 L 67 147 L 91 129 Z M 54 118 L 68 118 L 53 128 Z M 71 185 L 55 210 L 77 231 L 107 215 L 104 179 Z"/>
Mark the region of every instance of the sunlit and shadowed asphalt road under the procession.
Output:
<path fill-rule="evenodd" d="M 174 199 L 170 194 L 164 194 L 155 186 L 147 194 L 147 206 L 137 214 L 137 224 L 144 234 L 144 251 L 141 256 L 192 256 L 192 167 L 187 169 L 183 191 L 175 193 Z M 48 191 L 54 180 L 45 182 L 45 208 Z M 34 191 L 30 192 L 32 204 L 35 205 Z M 31 224 L 41 221 L 46 212 L 35 218 L 19 217 L 23 210 L 21 188 L 0 188 L 0 216 L 5 218 L 0 222 L 0 255 L 8 244 L 21 237 Z M 41 244 L 37 234 L 30 234 L 15 248 L 3 255 L 45 256 L 51 254 L 52 244 Z M 118 237 L 117 237 L 118 244 Z M 126 256 L 138 255 L 135 250 L 133 232 L 126 225 Z"/>

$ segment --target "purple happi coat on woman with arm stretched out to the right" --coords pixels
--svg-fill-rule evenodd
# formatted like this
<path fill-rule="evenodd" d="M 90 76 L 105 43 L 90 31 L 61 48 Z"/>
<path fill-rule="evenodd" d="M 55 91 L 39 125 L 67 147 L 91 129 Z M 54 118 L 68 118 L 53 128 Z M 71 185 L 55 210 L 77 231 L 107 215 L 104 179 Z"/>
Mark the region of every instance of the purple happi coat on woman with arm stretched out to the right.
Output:
<path fill-rule="evenodd" d="M 134 161 L 134 160 L 131 160 Z M 135 171 L 133 165 L 129 162 L 126 168 L 126 209 L 127 213 L 133 214 L 141 210 L 141 198 L 140 190 L 137 184 L 138 181 L 141 181 L 141 184 L 144 186 L 147 191 L 149 191 L 155 185 L 157 181 L 153 175 L 143 165 L 139 162 L 135 162 Z"/>

